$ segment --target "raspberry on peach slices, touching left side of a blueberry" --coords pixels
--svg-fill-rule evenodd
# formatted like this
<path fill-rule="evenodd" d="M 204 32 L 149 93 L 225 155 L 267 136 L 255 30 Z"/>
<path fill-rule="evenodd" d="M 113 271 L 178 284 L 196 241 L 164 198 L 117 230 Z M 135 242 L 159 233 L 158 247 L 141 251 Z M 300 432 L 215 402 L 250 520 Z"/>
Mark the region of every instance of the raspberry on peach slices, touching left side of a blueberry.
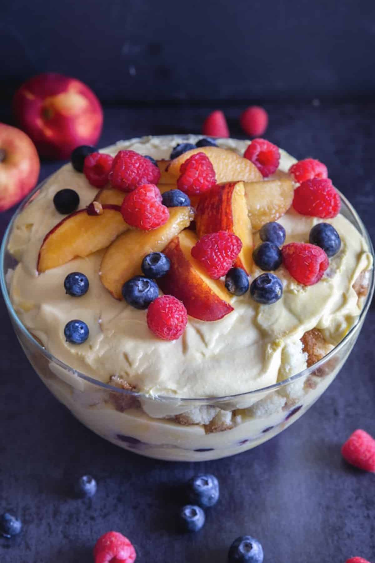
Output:
<path fill-rule="evenodd" d="M 132 227 L 151 231 L 169 219 L 169 209 L 161 203 L 161 193 L 153 184 L 137 186 L 121 205 L 124 221 Z"/>

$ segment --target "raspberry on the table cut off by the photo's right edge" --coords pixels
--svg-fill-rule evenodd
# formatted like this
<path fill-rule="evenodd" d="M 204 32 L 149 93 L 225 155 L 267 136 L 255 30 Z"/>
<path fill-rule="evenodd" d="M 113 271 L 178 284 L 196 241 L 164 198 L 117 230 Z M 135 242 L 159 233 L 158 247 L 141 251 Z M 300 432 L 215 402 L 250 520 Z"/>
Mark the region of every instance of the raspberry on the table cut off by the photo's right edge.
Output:
<path fill-rule="evenodd" d="M 348 463 L 375 473 L 375 440 L 364 430 L 355 430 L 341 448 Z"/>

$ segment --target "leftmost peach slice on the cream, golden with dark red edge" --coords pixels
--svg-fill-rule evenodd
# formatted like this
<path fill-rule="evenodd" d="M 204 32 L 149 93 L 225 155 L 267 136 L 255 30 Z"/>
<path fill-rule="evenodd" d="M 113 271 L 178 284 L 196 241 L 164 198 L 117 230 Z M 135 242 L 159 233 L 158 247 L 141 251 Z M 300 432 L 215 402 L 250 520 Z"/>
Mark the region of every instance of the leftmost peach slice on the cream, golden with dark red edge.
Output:
<path fill-rule="evenodd" d="M 118 205 L 102 205 L 101 215 L 88 215 L 87 209 L 71 213 L 44 237 L 37 270 L 45 272 L 106 248 L 129 229 Z"/>

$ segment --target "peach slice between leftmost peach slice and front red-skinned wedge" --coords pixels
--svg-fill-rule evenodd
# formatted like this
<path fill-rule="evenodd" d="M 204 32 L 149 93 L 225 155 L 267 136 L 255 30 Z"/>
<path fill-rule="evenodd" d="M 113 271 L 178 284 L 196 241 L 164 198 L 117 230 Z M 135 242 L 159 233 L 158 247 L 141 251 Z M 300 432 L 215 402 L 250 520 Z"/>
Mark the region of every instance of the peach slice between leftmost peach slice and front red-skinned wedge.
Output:
<path fill-rule="evenodd" d="M 100 279 L 116 298 L 122 299 L 125 282 L 141 274 L 141 263 L 146 254 L 161 252 L 174 236 L 186 229 L 193 220 L 191 207 L 171 207 L 169 220 L 152 231 L 129 231 L 119 236 L 107 248 L 100 265 Z"/>

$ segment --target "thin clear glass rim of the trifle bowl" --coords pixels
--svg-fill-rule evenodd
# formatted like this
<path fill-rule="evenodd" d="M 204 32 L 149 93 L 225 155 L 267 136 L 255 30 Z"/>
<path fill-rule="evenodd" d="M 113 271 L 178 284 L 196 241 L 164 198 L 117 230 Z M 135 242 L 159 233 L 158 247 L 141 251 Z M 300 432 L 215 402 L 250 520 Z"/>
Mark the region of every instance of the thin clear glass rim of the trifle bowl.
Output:
<path fill-rule="evenodd" d="M 0 249 L 0 268 L 1 268 L 1 271 L 0 271 L 0 287 L 1 287 L 3 298 L 4 298 L 4 301 L 6 303 L 7 310 L 8 310 L 8 313 L 10 315 L 10 318 L 13 321 L 13 323 L 15 323 L 17 325 L 17 327 L 19 328 L 22 335 L 48 361 L 57 364 L 60 368 L 67 370 L 70 373 L 73 373 L 79 379 L 83 379 L 84 381 L 87 381 L 88 383 L 91 383 L 92 385 L 94 385 L 96 387 L 100 387 L 100 388 L 102 388 L 106 391 L 109 391 L 109 392 L 112 392 L 112 393 L 120 393 L 120 394 L 124 394 L 124 395 L 132 395 L 134 397 L 137 397 L 138 399 L 144 398 L 144 399 L 148 399 L 148 400 L 166 401 L 168 403 L 176 403 L 176 404 L 181 404 L 181 403 L 191 404 L 191 403 L 197 403 L 197 402 L 201 403 L 201 404 L 222 403 L 224 401 L 231 401 L 233 399 L 240 399 L 241 397 L 245 397 L 245 396 L 250 397 L 250 396 L 261 395 L 261 394 L 264 394 L 264 393 L 269 393 L 270 391 L 276 391 L 276 390 L 278 390 L 282 387 L 290 385 L 290 383 L 295 382 L 295 381 L 297 381 L 297 379 L 300 379 L 301 377 L 306 376 L 308 373 L 318 369 L 326 361 L 331 359 L 338 351 L 341 350 L 342 347 L 344 347 L 346 345 L 346 342 L 349 341 L 349 339 L 353 338 L 356 335 L 356 333 L 360 330 L 360 328 L 362 328 L 362 324 L 363 324 L 364 318 L 367 314 L 367 311 L 369 309 L 369 306 L 371 304 L 373 293 L 374 293 L 374 288 L 375 288 L 374 265 L 372 266 L 372 268 L 370 270 L 371 280 L 369 282 L 369 289 L 368 289 L 368 293 L 367 293 L 366 300 L 364 302 L 363 308 L 360 311 L 360 314 L 358 316 L 356 323 L 346 333 L 345 337 L 335 347 L 333 347 L 332 350 L 330 352 L 328 352 L 328 354 L 326 356 L 323 356 L 323 358 L 320 359 L 319 361 L 317 361 L 315 364 L 311 365 L 309 368 L 302 370 L 299 373 L 294 374 L 291 377 L 288 377 L 287 379 L 283 379 L 283 381 L 280 381 L 278 383 L 273 383 L 273 385 L 261 387 L 259 389 L 254 389 L 252 391 L 241 392 L 241 393 L 238 393 L 238 394 L 235 394 L 235 395 L 227 395 L 227 396 L 211 396 L 211 397 L 179 397 L 179 396 L 162 396 L 162 395 L 151 396 L 151 395 L 148 395 L 146 393 L 137 392 L 137 391 L 128 391 L 128 390 L 125 390 L 125 389 L 121 389 L 119 387 L 112 386 L 109 383 L 103 383 L 102 381 L 99 381 L 98 379 L 94 379 L 93 377 L 87 376 L 84 373 L 81 373 L 78 370 L 75 370 L 71 366 L 65 364 L 62 360 L 56 358 L 56 356 L 54 356 L 46 348 L 44 348 L 37 341 L 37 339 L 35 339 L 33 337 L 33 335 L 29 332 L 29 330 L 22 323 L 21 319 L 19 318 L 15 309 L 13 308 L 12 302 L 10 300 L 10 296 L 9 296 L 8 288 L 7 288 L 7 284 L 6 284 L 6 279 L 5 279 L 5 275 L 4 275 L 4 258 L 5 258 L 6 252 L 7 252 L 8 239 L 10 237 L 10 233 L 11 233 L 12 227 L 13 227 L 15 221 L 16 221 L 16 218 L 20 215 L 20 213 L 26 207 L 26 205 L 29 204 L 30 200 L 33 199 L 34 195 L 37 194 L 38 191 L 40 189 L 42 189 L 44 184 L 46 184 L 48 182 L 48 180 L 53 176 L 54 173 L 52 173 L 52 175 L 49 175 L 42 182 L 40 182 L 37 186 L 35 186 L 34 189 L 30 191 L 28 196 L 26 196 L 26 198 L 24 198 L 22 200 L 20 205 L 16 208 L 16 211 L 13 214 L 13 216 L 12 216 L 8 226 L 7 226 L 7 229 L 6 229 L 6 231 L 3 235 L 1 249 Z M 363 224 L 362 220 L 360 219 L 358 213 L 355 211 L 353 205 L 351 205 L 351 203 L 346 199 L 346 197 L 339 190 L 337 190 L 337 191 L 340 194 L 341 200 L 345 203 L 345 205 L 349 209 L 351 215 L 353 215 L 355 221 L 358 223 L 360 229 L 362 230 L 361 234 L 362 234 L 362 236 L 364 236 L 366 243 L 368 245 L 369 252 L 372 254 L 372 258 L 374 260 L 374 258 L 375 258 L 374 249 L 373 249 L 371 238 L 368 234 L 366 227 L 364 226 L 364 224 Z"/>

